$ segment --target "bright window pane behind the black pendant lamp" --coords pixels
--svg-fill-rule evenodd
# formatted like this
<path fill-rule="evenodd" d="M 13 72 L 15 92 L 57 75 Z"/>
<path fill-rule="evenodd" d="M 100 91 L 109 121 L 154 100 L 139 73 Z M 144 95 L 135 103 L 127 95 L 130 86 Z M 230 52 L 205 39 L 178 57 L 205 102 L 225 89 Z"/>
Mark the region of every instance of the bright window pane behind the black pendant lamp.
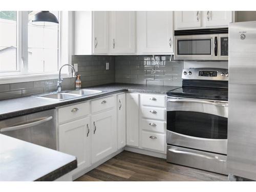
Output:
<path fill-rule="evenodd" d="M 58 18 L 57 11 L 50 11 Z M 29 13 L 29 20 L 35 11 Z M 29 73 L 56 72 L 58 70 L 58 30 L 56 26 L 28 24 L 28 69 Z"/>

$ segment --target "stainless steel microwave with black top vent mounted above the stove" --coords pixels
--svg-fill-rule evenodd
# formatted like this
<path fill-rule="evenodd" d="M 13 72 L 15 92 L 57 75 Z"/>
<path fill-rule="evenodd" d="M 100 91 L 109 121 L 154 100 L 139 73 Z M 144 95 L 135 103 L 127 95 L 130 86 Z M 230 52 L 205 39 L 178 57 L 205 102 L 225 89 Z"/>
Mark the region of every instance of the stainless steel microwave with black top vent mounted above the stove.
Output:
<path fill-rule="evenodd" d="M 228 60 L 228 28 L 177 30 L 175 60 Z"/>

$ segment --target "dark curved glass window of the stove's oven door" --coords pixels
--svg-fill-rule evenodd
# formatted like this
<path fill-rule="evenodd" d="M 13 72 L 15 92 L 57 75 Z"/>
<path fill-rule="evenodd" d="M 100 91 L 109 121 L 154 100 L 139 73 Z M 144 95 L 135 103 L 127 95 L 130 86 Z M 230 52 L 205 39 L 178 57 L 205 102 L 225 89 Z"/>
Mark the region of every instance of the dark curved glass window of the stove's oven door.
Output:
<path fill-rule="evenodd" d="M 193 137 L 227 139 L 227 118 L 199 112 L 168 111 L 167 130 Z"/>

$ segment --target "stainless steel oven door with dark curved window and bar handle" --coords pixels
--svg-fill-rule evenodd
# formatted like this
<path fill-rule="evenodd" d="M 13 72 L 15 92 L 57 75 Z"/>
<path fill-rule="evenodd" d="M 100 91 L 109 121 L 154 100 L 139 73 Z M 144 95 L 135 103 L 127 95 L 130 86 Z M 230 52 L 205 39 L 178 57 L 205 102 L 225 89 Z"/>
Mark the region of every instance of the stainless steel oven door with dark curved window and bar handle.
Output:
<path fill-rule="evenodd" d="M 167 98 L 166 142 L 227 154 L 227 101 Z"/>

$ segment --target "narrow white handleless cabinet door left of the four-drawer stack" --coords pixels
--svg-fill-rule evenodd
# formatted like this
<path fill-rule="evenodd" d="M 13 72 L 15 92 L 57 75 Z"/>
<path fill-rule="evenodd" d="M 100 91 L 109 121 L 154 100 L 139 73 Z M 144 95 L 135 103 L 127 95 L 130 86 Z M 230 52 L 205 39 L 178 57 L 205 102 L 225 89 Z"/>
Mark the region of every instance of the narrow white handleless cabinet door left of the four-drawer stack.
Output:
<path fill-rule="evenodd" d="M 139 94 L 126 94 L 126 144 L 139 146 Z"/>

